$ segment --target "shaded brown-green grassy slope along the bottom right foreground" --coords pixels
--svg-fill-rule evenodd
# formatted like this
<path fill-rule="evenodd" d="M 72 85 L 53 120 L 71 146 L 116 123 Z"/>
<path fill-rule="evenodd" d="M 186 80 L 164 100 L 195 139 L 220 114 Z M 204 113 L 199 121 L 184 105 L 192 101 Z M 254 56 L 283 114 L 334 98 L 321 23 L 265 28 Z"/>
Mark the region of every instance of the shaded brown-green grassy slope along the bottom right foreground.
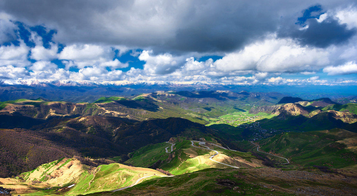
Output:
<path fill-rule="evenodd" d="M 348 174 L 347 171 L 345 173 Z M 355 175 L 353 171 L 350 176 Z M 217 184 L 217 179 L 233 182 L 231 187 Z M 341 175 L 326 175 L 316 169 L 290 171 L 273 168 L 205 169 L 170 178 L 151 179 L 134 187 L 99 195 L 353 195 L 356 180 L 345 181 Z M 314 192 L 315 191 L 315 192 Z"/>

